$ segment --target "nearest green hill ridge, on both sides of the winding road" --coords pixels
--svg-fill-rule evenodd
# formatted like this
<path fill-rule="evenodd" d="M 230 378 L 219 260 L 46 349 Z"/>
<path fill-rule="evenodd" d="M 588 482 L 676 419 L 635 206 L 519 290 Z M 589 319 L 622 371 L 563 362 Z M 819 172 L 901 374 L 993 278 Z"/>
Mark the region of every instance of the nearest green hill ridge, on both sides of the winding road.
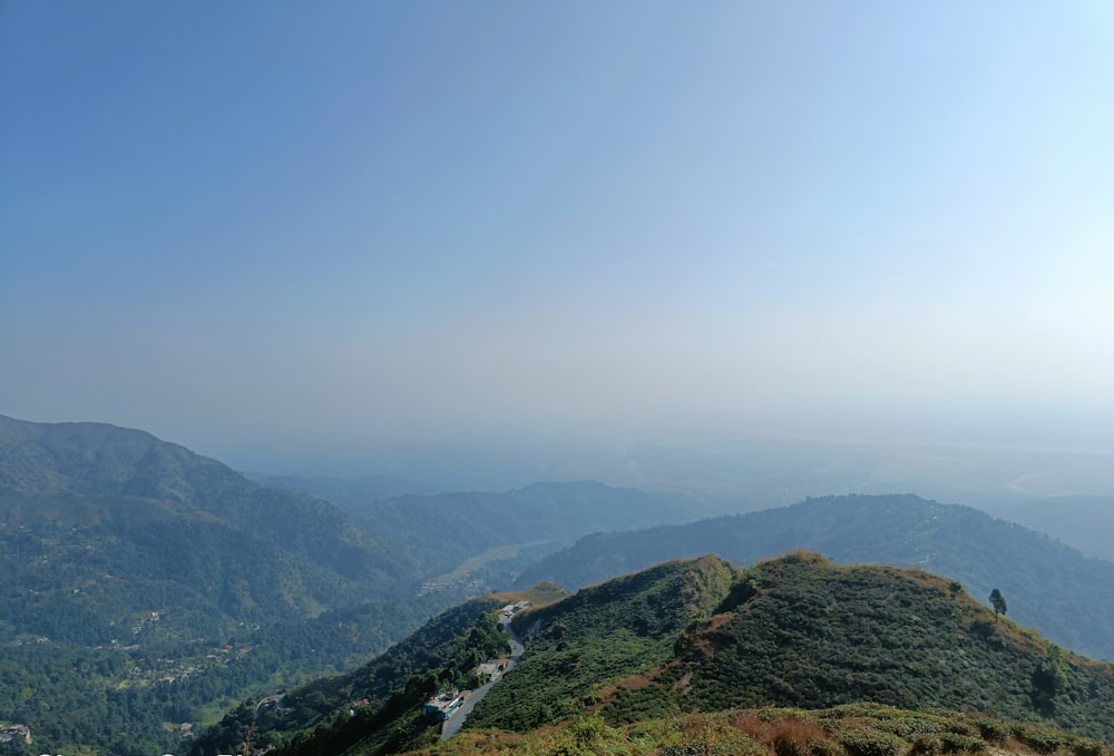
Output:
<path fill-rule="evenodd" d="M 443 686 L 471 685 L 475 659 L 499 652 L 498 607 L 526 593 L 446 612 L 379 660 L 289 691 L 281 708 L 244 707 L 194 754 L 233 747 L 248 726 L 253 743 L 283 756 L 471 753 L 469 746 L 504 753 L 500 733 L 555 726 L 585 739 L 636 727 L 666 738 L 664 747 L 677 740 L 653 721 L 723 710 L 735 711 L 736 725 L 746 717 L 812 721 L 817 739 L 842 744 L 818 753 L 848 756 L 900 756 L 917 738 L 922 750 L 913 753 L 1009 750 L 1018 743 L 1040 750 L 1042 740 L 1052 746 L 1042 753 L 1103 752 L 1048 725 L 1114 738 L 1114 667 L 1064 651 L 996 616 L 957 582 L 922 571 L 838 567 L 804 552 L 743 569 L 704 556 L 567 598 L 540 590 L 548 599 L 515 619 L 527 637 L 521 664 L 477 705 L 456 747 L 438 745 L 440 730 L 422 717 L 421 704 Z M 984 714 L 958 714 L 971 710 Z M 856 723 L 870 732 L 846 734 Z M 628 744 L 609 753 L 634 752 Z"/>

